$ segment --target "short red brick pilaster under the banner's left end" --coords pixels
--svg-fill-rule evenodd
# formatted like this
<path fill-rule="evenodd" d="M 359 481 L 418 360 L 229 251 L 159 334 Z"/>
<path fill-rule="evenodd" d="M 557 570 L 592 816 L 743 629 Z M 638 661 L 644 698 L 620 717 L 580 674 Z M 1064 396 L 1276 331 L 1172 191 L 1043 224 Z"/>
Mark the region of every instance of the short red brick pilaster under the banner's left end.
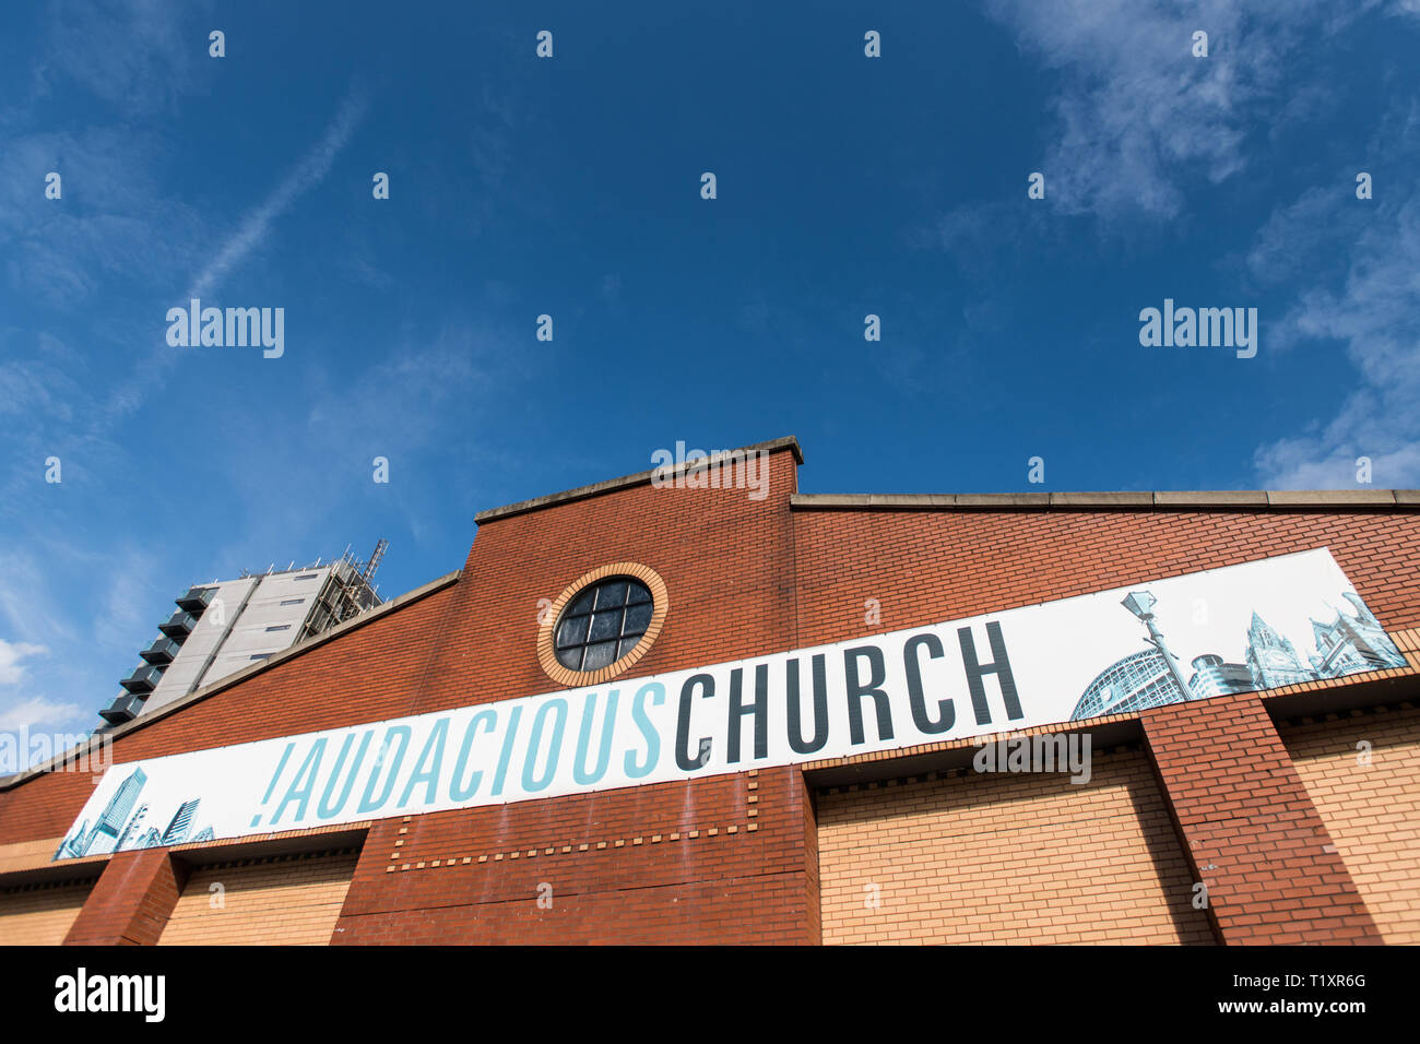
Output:
<path fill-rule="evenodd" d="M 64 937 L 65 946 L 152 946 L 187 883 L 166 848 L 118 852 Z"/>

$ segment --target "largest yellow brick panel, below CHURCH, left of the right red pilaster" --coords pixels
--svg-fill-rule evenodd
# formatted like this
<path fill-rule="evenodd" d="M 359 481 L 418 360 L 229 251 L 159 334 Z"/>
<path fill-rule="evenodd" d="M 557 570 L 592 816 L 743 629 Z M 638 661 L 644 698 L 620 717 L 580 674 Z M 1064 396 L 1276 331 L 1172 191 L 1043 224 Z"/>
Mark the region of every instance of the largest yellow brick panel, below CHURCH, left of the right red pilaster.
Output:
<path fill-rule="evenodd" d="M 1142 751 L 917 780 L 819 793 L 825 943 L 1213 943 Z"/>

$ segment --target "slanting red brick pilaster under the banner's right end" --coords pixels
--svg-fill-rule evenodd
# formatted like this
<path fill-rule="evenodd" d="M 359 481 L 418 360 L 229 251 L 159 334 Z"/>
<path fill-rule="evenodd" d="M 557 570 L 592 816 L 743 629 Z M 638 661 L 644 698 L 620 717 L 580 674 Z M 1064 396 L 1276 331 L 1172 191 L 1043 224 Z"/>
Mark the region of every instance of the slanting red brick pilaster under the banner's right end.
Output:
<path fill-rule="evenodd" d="M 1154 707 L 1142 717 L 1221 942 L 1380 942 L 1255 693 Z"/>

